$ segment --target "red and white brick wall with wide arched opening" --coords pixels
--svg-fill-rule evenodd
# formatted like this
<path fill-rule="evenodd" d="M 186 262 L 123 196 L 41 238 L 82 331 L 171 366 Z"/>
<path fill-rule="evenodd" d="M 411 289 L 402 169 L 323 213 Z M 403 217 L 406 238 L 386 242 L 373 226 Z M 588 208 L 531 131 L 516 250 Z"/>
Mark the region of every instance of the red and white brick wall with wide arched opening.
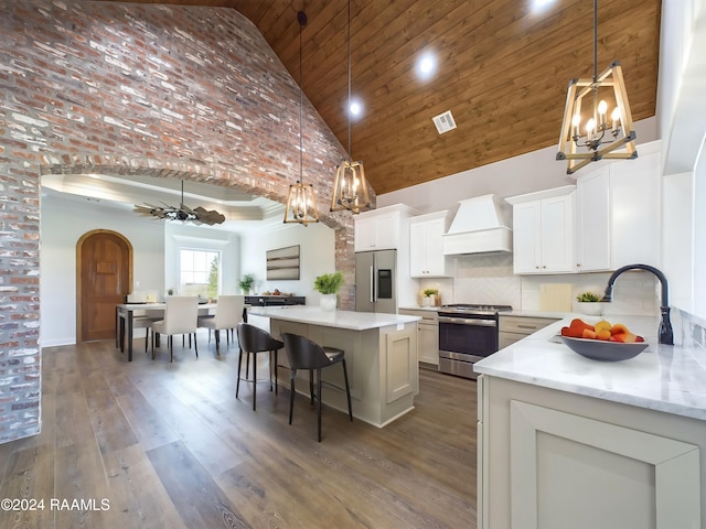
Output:
<path fill-rule="evenodd" d="M 0 0 L 0 34 L 6 442 L 40 428 L 40 175 L 194 180 L 284 203 L 299 177 L 299 87 L 233 9 Z M 341 305 L 352 307 L 352 217 L 328 212 L 344 154 L 304 99 L 304 181 L 336 229 L 336 268 L 347 280 Z"/>

